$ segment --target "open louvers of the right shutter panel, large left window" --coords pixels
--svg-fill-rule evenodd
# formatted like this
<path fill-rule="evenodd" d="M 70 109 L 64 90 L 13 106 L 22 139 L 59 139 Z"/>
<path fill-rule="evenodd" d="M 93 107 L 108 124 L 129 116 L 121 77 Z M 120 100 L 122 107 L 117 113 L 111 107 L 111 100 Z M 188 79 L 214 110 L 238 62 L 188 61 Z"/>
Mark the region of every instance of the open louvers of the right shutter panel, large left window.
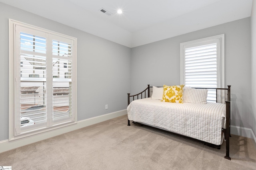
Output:
<path fill-rule="evenodd" d="M 53 121 L 72 117 L 72 45 L 52 41 Z"/>

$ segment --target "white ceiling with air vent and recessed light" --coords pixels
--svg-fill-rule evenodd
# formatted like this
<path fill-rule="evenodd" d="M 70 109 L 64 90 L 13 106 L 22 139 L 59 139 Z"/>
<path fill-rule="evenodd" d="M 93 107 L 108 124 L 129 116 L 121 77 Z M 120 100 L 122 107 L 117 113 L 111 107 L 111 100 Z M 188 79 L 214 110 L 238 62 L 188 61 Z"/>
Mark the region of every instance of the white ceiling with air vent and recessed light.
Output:
<path fill-rule="evenodd" d="M 252 0 L 0 0 L 127 47 L 249 17 Z M 100 12 L 104 8 L 112 13 Z M 122 9 L 122 14 L 117 10 Z"/>

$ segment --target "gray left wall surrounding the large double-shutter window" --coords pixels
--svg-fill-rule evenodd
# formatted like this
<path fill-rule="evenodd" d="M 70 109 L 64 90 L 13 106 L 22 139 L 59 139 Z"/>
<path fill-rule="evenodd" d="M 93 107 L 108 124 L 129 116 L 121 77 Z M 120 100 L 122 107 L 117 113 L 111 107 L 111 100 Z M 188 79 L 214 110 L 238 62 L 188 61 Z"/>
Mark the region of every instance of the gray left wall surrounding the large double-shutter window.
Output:
<path fill-rule="evenodd" d="M 78 121 L 126 109 L 126 93 L 130 91 L 130 48 L 0 3 L 0 141 L 8 139 L 9 18 L 77 38 Z"/>

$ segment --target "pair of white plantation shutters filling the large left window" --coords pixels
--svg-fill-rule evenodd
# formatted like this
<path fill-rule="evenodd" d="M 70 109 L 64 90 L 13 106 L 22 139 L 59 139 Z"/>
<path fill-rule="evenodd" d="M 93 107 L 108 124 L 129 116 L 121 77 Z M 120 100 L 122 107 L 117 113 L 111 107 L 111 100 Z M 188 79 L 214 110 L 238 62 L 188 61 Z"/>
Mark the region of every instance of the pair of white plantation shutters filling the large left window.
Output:
<path fill-rule="evenodd" d="M 13 28 L 12 138 L 75 123 L 76 39 L 23 23 Z"/>

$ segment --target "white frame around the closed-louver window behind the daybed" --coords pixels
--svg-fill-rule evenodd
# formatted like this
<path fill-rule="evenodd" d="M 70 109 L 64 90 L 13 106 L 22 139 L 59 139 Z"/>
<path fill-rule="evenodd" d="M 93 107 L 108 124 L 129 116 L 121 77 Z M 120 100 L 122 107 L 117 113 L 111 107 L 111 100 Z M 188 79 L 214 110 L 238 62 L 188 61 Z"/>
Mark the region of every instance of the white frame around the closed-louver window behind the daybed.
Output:
<path fill-rule="evenodd" d="M 185 84 L 185 49 L 206 45 L 206 42 L 216 41 L 217 43 L 217 88 L 225 88 L 225 35 L 216 35 L 193 41 L 180 43 L 180 84 Z M 218 96 L 218 101 L 223 101 L 224 94 Z"/>

